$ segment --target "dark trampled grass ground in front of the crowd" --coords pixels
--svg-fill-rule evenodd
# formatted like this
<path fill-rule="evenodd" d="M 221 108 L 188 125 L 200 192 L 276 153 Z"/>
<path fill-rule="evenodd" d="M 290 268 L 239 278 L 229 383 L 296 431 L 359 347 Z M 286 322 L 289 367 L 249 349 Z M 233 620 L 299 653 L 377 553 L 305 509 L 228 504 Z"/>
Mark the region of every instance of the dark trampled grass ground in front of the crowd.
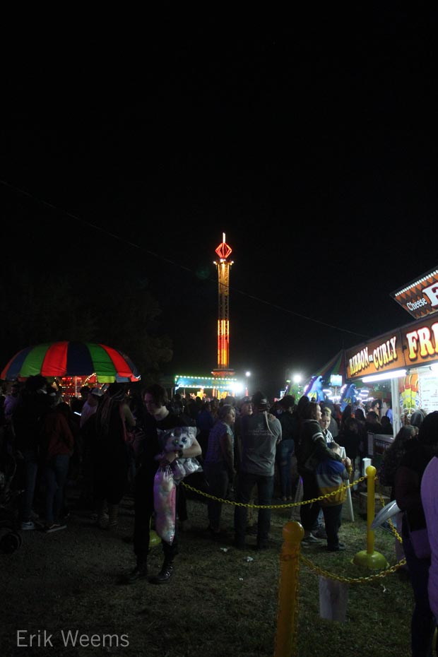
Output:
<path fill-rule="evenodd" d="M 297 646 L 301 657 L 341 654 L 357 657 L 408 657 L 413 594 L 406 576 L 385 577 L 348 585 L 345 622 L 319 615 L 319 574 L 325 569 L 348 578 L 373 575 L 351 563 L 366 548 L 366 521 L 353 501 L 355 521 L 344 510 L 341 538 L 345 552 L 327 552 L 324 544 L 303 552 L 312 567 L 300 566 Z M 268 550 L 254 549 L 248 534 L 247 550 L 232 546 L 234 507 L 223 507 L 223 534 L 212 540 L 205 531 L 205 499 L 189 497 L 189 531 L 182 533 L 182 549 L 169 584 L 153 586 L 137 581 L 118 584 L 119 575 L 134 565 L 129 538 L 134 524 L 133 500 L 124 498 L 117 533 L 102 531 L 78 509 L 66 531 L 23 532 L 23 545 L 12 555 L 0 555 L 2 611 L 1 656 L 22 655 L 17 631 L 46 629 L 51 646 L 28 650 L 38 657 L 272 657 L 276 640 L 278 583 L 283 527 L 291 509 L 272 514 Z M 394 564 L 394 539 L 376 533 L 375 549 Z M 160 569 L 162 551 L 150 553 L 150 572 Z M 112 644 L 64 646 L 61 631 L 91 637 L 112 634 Z M 120 645 L 122 635 L 128 646 Z M 27 636 L 27 635 L 26 635 Z M 116 639 L 119 645 L 117 646 Z M 97 643 L 97 639 L 95 639 Z"/>

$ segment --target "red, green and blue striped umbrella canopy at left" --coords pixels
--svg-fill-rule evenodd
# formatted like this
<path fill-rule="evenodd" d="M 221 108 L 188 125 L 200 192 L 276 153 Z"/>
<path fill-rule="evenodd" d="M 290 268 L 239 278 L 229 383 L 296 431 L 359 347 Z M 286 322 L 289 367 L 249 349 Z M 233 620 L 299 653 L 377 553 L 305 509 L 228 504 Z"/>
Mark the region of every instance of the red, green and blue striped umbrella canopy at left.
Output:
<path fill-rule="evenodd" d="M 88 377 L 100 383 L 139 381 L 134 363 L 121 351 L 91 342 L 51 342 L 19 351 L 0 374 L 4 381 L 43 377 Z"/>

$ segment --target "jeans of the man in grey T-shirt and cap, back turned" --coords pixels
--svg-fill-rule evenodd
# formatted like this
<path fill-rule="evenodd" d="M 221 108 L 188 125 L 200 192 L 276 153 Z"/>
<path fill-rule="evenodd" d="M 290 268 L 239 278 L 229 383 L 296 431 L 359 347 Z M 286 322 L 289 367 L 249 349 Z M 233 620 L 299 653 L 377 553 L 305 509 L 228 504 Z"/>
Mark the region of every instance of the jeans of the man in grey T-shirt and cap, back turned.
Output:
<path fill-rule="evenodd" d="M 251 492 L 257 486 L 257 497 L 261 506 L 272 504 L 274 478 L 266 475 L 254 475 L 240 472 L 237 477 L 237 502 L 248 504 Z M 235 507 L 235 542 L 244 545 L 245 531 L 247 529 L 247 507 Z M 269 535 L 271 528 L 271 509 L 259 509 L 257 524 L 257 543 L 263 543 Z"/>

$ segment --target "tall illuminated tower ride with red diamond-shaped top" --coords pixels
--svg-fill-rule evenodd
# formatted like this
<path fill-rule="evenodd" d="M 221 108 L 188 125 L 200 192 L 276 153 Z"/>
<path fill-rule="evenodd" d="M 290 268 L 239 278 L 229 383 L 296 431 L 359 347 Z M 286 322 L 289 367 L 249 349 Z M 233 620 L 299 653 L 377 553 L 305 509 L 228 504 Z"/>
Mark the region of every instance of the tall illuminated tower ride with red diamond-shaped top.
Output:
<path fill-rule="evenodd" d="M 230 369 L 230 267 L 232 261 L 231 247 L 225 242 L 225 232 L 222 234 L 222 243 L 216 249 L 220 260 L 215 261 L 218 268 L 218 367 L 213 369 L 213 377 L 227 377 L 235 374 Z"/>

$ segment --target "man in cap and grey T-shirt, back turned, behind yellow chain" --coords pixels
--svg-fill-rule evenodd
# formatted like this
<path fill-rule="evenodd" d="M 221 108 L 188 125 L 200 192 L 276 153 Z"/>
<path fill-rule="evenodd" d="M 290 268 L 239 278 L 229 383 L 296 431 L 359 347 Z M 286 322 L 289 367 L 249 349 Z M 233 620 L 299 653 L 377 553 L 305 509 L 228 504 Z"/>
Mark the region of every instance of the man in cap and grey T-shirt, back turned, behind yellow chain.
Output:
<path fill-rule="evenodd" d="M 262 392 L 252 397 L 254 413 L 242 418 L 242 461 L 237 476 L 237 502 L 248 504 L 251 491 L 257 486 L 258 504 L 267 507 L 272 503 L 276 447 L 281 440 L 281 425 L 268 414 L 268 398 Z M 235 545 L 244 548 L 247 528 L 247 507 L 235 507 Z M 268 547 L 271 528 L 271 509 L 259 509 L 257 549 Z"/>

